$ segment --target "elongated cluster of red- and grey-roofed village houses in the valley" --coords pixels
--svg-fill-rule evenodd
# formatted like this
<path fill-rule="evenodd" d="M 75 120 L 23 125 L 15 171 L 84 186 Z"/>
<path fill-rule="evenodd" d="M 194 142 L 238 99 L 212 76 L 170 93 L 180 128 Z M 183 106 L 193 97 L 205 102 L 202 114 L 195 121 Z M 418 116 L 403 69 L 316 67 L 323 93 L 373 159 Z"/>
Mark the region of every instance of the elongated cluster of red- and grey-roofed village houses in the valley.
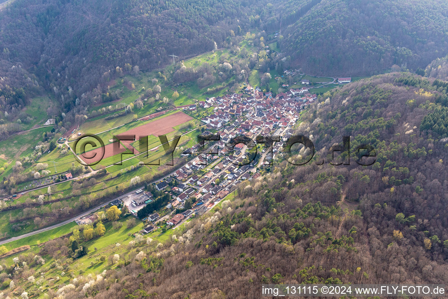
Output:
<path fill-rule="evenodd" d="M 350 81 L 351 78 L 338 79 L 339 83 Z M 309 81 L 302 84 L 308 85 Z M 119 207 L 126 205 L 134 216 L 147 222 L 141 234 L 151 233 L 160 226 L 175 229 L 189 218 L 210 210 L 235 191 L 241 181 L 257 178 L 259 171 L 272 165 L 276 155 L 281 154 L 284 143 L 294 133 L 301 111 L 318 98 L 307 86 L 276 95 L 250 85 L 242 91 L 207 97 L 197 105 L 183 107 L 185 113 L 191 115 L 198 109 L 211 108 L 212 113 L 201 118 L 207 128 L 203 134 L 219 136 L 216 138 L 219 140 L 208 141 L 208 147 L 205 143 L 196 143 L 181 154 L 195 155 L 193 160 L 167 178 L 146 186 L 145 190 L 139 189 L 111 203 Z M 252 149 L 257 148 L 257 141 L 259 143 L 257 136 L 279 136 L 279 139 L 278 142 L 258 144 L 262 146 L 262 155 L 256 155 Z M 235 141 L 241 137 L 245 138 L 244 143 Z M 142 216 L 138 211 L 155 199 L 150 190 L 169 195 L 165 197 L 168 201 Z"/>

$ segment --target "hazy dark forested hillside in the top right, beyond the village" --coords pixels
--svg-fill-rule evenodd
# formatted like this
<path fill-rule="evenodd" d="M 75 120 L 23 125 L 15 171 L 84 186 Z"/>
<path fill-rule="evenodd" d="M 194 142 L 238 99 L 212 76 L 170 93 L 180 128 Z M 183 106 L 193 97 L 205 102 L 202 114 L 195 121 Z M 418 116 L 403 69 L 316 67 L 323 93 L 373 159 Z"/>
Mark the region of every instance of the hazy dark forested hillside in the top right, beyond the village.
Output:
<path fill-rule="evenodd" d="M 447 52 L 448 4 L 434 0 L 323 0 L 282 28 L 282 50 L 312 74 L 425 68 Z"/>

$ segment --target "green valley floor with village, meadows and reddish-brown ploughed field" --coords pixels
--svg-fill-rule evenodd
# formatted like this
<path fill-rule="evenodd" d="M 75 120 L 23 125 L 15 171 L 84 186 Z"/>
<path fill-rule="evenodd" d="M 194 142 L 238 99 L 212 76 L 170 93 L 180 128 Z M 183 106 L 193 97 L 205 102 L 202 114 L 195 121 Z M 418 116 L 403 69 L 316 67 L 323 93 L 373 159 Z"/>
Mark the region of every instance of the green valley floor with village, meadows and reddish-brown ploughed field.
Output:
<path fill-rule="evenodd" d="M 302 69 L 249 67 L 257 52 L 279 55 L 275 41 L 257 48 L 255 39 L 250 35 L 241 40 L 241 48 L 175 61 L 160 71 L 120 72 L 107 93 L 116 100 L 99 100 L 78 123 L 43 133 L 47 142 L 28 158 L 37 163 L 28 167 L 24 153 L 24 167 L 13 166 L 24 180 L 4 197 L 3 205 L 41 205 L 57 217 L 13 224 L 12 235 L 4 234 L 0 242 L 13 249 L 27 238 L 49 240 L 41 236 L 52 233 L 45 227 L 50 224 L 66 235 L 81 232 L 82 243 L 70 256 L 74 265 L 90 263 L 94 273 L 115 266 L 103 263 L 103 256 L 124 255 L 142 242 L 163 246 L 161 242 L 188 235 L 194 223 L 245 196 L 250 181 L 263 179 L 289 159 L 284 150 L 301 114 L 323 102 L 333 88 L 352 81 L 304 74 Z M 202 68 L 215 76 L 205 86 L 199 83 L 209 75 L 193 81 L 177 76 Z M 77 147 L 78 140 L 95 141 L 92 135 L 103 141 L 103 155 L 102 146 Z M 117 140 L 121 135 L 134 140 Z M 305 147 L 291 152 L 302 159 Z M 103 223 L 106 231 L 90 238 L 90 229 Z M 14 241 L 25 229 L 34 231 Z M 64 238 L 62 232 L 56 234 L 52 238 Z M 127 247 L 121 246 L 125 243 Z"/>

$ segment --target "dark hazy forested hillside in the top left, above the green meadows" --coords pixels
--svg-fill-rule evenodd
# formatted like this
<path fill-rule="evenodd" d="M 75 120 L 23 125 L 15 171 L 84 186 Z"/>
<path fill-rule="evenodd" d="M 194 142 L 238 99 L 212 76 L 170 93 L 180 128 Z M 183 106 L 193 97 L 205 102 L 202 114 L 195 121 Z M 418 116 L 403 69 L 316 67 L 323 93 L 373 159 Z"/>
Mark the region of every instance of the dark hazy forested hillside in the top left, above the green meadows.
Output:
<path fill-rule="evenodd" d="M 2 110 L 26 95 L 5 94 L 40 82 L 61 98 L 65 113 L 76 98 L 116 71 L 161 67 L 222 47 L 267 17 L 266 3 L 245 1 L 16 0 L 0 12 Z M 118 70 L 116 69 L 118 67 Z M 21 70 L 26 69 L 26 70 Z M 38 78 L 35 81 L 35 74 Z M 29 93 L 31 91 L 28 91 Z M 26 103 L 25 103 L 26 104 Z"/>

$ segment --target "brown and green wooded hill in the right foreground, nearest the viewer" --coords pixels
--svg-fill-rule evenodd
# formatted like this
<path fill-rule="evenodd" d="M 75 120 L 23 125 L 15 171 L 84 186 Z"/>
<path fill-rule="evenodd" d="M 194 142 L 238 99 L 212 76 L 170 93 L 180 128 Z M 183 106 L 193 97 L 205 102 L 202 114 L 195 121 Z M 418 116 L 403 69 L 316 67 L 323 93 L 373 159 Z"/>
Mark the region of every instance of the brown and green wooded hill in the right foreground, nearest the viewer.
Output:
<path fill-rule="evenodd" d="M 310 163 L 284 160 L 308 150 L 276 158 L 185 234 L 135 243 L 116 269 L 76 277 L 50 298 L 259 298 L 269 282 L 446 282 L 448 143 L 426 127 L 428 117 L 446 120 L 437 84 L 394 73 L 327 92 L 297 130 L 316 146 Z M 344 135 L 350 165 L 329 165 Z M 375 149 L 373 165 L 355 163 L 362 143 Z"/>

